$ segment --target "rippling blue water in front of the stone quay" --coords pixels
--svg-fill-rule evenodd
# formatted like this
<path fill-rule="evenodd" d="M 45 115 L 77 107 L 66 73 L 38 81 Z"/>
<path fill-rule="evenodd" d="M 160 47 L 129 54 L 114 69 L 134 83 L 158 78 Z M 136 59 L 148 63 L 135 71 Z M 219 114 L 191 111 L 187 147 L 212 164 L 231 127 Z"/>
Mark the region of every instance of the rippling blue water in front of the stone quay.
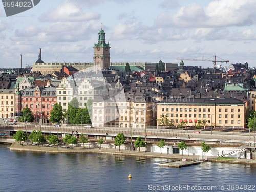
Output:
<path fill-rule="evenodd" d="M 0 144 L 0 191 L 159 191 L 153 189 L 166 185 L 217 187 L 201 191 L 251 191 L 227 190 L 227 185 L 256 183 L 255 165 L 207 162 L 169 168 L 159 167 L 158 163 L 167 161 L 159 158 L 16 152 L 8 147 Z M 220 185 L 225 185 L 225 190 L 220 190 Z M 183 191 L 198 191 L 192 189 Z"/>

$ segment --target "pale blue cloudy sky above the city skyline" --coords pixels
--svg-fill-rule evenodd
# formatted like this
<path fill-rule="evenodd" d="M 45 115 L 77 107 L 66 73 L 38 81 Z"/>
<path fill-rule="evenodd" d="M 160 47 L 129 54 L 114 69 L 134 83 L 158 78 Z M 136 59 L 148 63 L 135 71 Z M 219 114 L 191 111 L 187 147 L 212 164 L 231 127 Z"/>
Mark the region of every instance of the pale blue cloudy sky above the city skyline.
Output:
<path fill-rule="evenodd" d="M 44 62 L 93 62 L 101 26 L 113 63 L 179 63 L 177 58 L 216 55 L 252 68 L 255 10 L 255 0 L 41 0 L 6 17 L 0 5 L 0 68 L 18 68 L 20 55 L 23 66 L 32 65 L 39 48 Z"/>

